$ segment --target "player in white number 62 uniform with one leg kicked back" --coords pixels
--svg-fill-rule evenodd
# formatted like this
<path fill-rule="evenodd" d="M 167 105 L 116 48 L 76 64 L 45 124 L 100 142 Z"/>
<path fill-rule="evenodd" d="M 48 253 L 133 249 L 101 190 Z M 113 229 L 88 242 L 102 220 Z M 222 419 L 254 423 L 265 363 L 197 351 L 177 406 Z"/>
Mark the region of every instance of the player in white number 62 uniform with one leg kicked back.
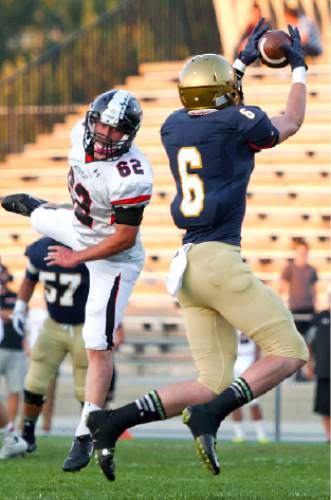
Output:
<path fill-rule="evenodd" d="M 96 97 L 85 121 L 72 131 L 68 180 L 73 207 L 22 193 L 2 200 L 3 208 L 31 216 L 34 229 L 70 247 L 51 247 L 49 265 L 85 262 L 90 273 L 83 327 L 88 354 L 85 403 L 65 471 L 80 470 L 92 456 L 86 417 L 104 405 L 112 376 L 113 332 L 144 263 L 139 226 L 152 195 L 153 174 L 133 144 L 141 118 L 138 101 L 126 90 Z"/>

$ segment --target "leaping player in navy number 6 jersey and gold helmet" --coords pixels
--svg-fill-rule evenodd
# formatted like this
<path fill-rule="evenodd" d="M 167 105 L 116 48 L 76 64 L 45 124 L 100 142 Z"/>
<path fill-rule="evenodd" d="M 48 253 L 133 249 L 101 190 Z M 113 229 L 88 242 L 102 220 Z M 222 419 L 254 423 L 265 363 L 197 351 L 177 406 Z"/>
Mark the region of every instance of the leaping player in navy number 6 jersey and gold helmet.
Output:
<path fill-rule="evenodd" d="M 258 40 L 267 29 L 262 19 L 234 64 L 239 76 L 257 59 Z M 258 107 L 245 106 L 234 68 L 219 55 L 195 56 L 180 74 L 184 108 L 170 115 L 161 129 L 177 187 L 172 215 L 176 225 L 186 229 L 168 289 L 180 302 L 199 376 L 151 391 L 112 412 L 89 414 L 87 425 L 99 454 L 108 457 L 108 466 L 105 459 L 100 465 L 110 479 L 115 443 L 124 428 L 183 410 L 203 462 L 218 474 L 215 442 L 221 421 L 307 360 L 291 314 L 240 255 L 254 155 L 285 141 L 304 120 L 306 66 L 298 31 L 289 26 L 289 33 L 292 45 L 286 50 L 293 76 L 283 116 L 269 119 Z M 232 382 L 236 329 L 266 356 Z"/>

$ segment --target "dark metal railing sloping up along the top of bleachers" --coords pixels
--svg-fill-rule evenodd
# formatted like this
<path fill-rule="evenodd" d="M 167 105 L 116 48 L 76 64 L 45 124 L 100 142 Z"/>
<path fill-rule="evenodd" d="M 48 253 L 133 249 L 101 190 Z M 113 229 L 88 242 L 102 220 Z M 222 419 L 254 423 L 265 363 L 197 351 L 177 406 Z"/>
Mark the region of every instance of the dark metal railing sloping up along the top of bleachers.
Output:
<path fill-rule="evenodd" d="M 0 161 L 79 103 L 137 74 L 141 62 L 220 51 L 212 0 L 123 0 L 0 82 Z"/>

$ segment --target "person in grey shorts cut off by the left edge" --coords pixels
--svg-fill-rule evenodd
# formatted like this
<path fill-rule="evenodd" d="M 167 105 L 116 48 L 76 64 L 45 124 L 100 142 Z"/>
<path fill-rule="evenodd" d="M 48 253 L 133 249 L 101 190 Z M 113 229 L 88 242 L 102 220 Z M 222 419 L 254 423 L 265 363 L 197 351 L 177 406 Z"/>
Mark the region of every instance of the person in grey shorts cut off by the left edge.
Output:
<path fill-rule="evenodd" d="M 0 341 L 0 375 L 5 378 L 7 386 L 9 424 L 14 426 L 20 396 L 23 392 L 26 357 L 23 337 L 15 331 L 11 322 L 11 314 L 16 302 L 16 293 L 8 288 L 8 283 L 12 280 L 13 277 L 6 266 L 0 264 L 0 316 L 3 322 L 3 338 Z"/>

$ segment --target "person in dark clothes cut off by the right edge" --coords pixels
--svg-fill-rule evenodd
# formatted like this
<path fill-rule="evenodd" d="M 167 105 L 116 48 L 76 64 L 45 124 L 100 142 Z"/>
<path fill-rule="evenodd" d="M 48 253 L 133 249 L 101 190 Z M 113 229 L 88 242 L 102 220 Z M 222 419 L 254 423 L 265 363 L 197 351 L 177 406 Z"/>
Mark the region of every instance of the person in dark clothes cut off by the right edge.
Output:
<path fill-rule="evenodd" d="M 330 294 L 331 290 L 331 303 Z M 311 356 L 305 373 L 308 379 L 315 374 L 314 412 L 322 416 L 326 439 L 330 442 L 330 307 L 314 316 L 307 342 Z"/>

